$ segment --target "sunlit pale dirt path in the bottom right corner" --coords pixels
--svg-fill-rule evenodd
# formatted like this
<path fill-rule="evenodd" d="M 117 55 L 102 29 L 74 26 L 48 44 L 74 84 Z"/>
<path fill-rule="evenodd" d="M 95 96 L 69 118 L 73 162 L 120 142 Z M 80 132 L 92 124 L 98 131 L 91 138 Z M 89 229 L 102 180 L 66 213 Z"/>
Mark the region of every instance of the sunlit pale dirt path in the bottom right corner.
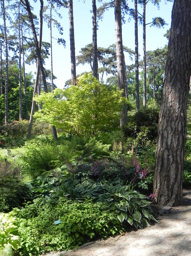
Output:
<path fill-rule="evenodd" d="M 191 190 L 184 205 L 158 215 L 155 225 L 46 256 L 191 256 Z"/>

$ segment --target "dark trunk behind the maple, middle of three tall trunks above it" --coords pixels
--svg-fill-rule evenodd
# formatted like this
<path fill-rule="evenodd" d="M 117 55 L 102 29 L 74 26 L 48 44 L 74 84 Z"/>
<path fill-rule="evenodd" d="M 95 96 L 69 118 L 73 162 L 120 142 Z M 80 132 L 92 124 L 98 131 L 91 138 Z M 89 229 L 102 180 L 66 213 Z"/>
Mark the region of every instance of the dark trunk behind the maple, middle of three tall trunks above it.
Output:
<path fill-rule="evenodd" d="M 97 20 L 96 20 L 96 0 L 92 0 L 92 20 L 93 20 L 93 76 L 98 79 L 97 62 Z"/>

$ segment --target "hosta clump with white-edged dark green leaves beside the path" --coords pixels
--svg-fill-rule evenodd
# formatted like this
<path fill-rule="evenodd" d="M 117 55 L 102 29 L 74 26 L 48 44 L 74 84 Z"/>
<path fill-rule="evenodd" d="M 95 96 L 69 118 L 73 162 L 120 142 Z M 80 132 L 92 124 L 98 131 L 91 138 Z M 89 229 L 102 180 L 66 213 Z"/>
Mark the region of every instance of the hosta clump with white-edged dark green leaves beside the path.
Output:
<path fill-rule="evenodd" d="M 136 228 L 149 226 L 148 220 L 155 221 L 147 197 L 133 190 L 131 184 L 123 185 L 120 179 L 115 179 L 113 183 L 91 183 L 86 180 L 81 184 L 73 184 L 73 186 L 66 182 L 53 190 L 50 200 L 63 196 L 78 201 L 90 198 L 95 202 L 109 202 L 111 208 L 117 210 L 117 217 L 121 222 L 128 221 L 130 225 L 134 225 Z"/>

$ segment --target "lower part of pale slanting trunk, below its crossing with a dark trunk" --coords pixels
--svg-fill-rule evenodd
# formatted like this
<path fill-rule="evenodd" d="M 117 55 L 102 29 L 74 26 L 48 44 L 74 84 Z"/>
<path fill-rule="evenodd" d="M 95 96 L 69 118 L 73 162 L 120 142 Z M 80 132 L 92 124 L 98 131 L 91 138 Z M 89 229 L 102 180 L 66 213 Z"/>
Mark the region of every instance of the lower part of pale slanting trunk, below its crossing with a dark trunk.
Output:
<path fill-rule="evenodd" d="M 33 119 L 34 119 L 33 115 L 34 115 L 34 111 L 35 111 L 35 107 L 36 107 L 36 101 L 34 101 L 34 97 L 37 94 L 37 90 L 38 90 L 39 73 L 40 73 L 40 67 L 39 67 L 39 63 L 37 61 L 37 71 L 36 71 L 36 80 L 35 80 L 34 91 L 33 91 L 31 115 L 30 115 L 30 119 L 29 119 L 28 132 L 27 132 L 27 135 L 26 135 L 27 139 L 31 138 L 31 133 L 32 133 L 32 124 L 33 124 Z"/>

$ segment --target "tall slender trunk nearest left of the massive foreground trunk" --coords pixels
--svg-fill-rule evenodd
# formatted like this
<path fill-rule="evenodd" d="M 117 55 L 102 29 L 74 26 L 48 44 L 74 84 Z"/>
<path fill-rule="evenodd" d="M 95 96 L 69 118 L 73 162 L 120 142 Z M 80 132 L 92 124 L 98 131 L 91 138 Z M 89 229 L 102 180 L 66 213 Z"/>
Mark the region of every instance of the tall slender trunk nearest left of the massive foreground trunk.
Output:
<path fill-rule="evenodd" d="M 146 85 L 146 0 L 143 0 L 143 108 L 146 109 L 147 85 Z"/>

